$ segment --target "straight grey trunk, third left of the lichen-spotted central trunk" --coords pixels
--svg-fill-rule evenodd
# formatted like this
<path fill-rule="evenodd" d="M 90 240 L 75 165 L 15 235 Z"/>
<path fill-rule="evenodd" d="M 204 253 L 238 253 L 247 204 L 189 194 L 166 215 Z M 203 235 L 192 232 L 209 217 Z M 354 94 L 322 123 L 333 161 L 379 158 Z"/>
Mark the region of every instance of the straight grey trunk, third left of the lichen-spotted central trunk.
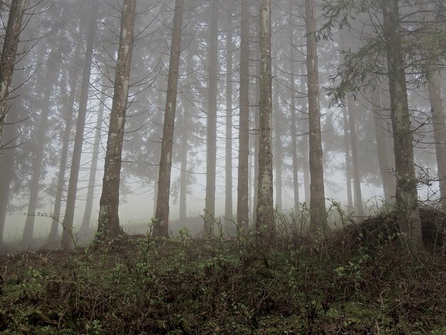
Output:
<path fill-rule="evenodd" d="M 207 109 L 206 200 L 204 204 L 204 233 L 212 234 L 215 214 L 215 175 L 217 173 L 217 69 L 218 69 L 218 11 L 219 2 L 212 0 L 209 36 L 209 101 Z"/>

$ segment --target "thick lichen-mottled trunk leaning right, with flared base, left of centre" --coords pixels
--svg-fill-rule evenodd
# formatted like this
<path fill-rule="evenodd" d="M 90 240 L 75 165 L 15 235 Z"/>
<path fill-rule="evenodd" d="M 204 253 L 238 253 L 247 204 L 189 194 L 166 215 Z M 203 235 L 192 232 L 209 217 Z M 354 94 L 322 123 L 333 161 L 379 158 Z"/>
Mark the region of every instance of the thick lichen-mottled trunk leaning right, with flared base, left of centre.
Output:
<path fill-rule="evenodd" d="M 125 114 L 128 108 L 128 89 L 132 65 L 135 15 L 136 0 L 124 0 L 115 72 L 115 89 L 105 153 L 102 195 L 99 201 L 98 234 L 101 240 L 113 239 L 123 232 L 119 225 L 119 187 Z"/>

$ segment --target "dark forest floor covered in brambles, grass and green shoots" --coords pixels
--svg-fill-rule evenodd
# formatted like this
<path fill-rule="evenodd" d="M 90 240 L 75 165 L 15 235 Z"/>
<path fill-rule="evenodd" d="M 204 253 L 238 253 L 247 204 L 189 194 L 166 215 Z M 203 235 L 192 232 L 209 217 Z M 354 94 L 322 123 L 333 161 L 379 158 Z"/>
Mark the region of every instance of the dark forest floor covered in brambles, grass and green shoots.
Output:
<path fill-rule="evenodd" d="M 444 255 L 340 236 L 1 255 L 0 333 L 446 334 Z"/>

